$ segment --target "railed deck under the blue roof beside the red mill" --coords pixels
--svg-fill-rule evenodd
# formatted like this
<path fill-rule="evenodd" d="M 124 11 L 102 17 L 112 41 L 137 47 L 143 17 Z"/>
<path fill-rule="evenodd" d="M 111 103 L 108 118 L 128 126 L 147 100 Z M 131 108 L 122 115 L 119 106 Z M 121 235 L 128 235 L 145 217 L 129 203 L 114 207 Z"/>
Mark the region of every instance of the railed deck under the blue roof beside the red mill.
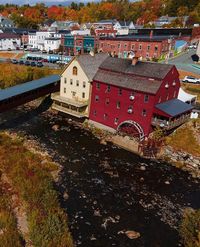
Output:
<path fill-rule="evenodd" d="M 154 127 L 160 127 L 165 130 L 170 130 L 180 126 L 190 119 L 190 114 L 185 114 L 175 119 L 159 119 L 159 117 L 153 117 L 151 124 Z"/>

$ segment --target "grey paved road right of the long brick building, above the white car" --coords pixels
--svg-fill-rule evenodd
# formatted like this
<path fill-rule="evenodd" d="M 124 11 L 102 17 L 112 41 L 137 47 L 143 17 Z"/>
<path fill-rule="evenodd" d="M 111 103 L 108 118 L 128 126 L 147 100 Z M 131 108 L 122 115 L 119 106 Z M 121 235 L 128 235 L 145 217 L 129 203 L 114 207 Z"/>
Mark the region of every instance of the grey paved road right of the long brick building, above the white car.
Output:
<path fill-rule="evenodd" d="M 192 61 L 191 58 L 191 56 L 194 55 L 195 52 L 196 50 L 192 49 L 186 53 L 183 53 L 182 55 L 170 59 L 168 63 L 176 65 L 178 69 L 200 75 L 200 66 L 199 69 L 197 67 L 194 67 L 193 65 L 195 65 L 195 63 Z"/>

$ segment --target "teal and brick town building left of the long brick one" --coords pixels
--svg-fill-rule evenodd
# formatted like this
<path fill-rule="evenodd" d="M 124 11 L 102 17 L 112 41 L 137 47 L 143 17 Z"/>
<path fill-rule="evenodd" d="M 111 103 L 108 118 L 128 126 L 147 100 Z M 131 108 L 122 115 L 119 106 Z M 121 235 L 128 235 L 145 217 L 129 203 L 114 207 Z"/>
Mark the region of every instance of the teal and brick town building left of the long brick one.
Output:
<path fill-rule="evenodd" d="M 65 35 L 62 44 L 67 55 L 85 54 L 98 49 L 98 37 Z"/>

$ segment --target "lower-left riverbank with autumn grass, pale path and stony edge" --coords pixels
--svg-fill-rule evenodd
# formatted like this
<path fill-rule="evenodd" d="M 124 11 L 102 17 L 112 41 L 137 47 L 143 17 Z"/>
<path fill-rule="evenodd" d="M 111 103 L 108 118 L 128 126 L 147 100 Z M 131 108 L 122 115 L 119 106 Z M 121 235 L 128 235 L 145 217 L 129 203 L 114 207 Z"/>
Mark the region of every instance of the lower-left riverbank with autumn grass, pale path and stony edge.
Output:
<path fill-rule="evenodd" d="M 32 144 L 16 134 L 0 133 L 1 182 L 7 184 L 7 192 L 10 192 L 18 229 L 15 231 L 21 233 L 25 246 L 72 247 L 67 217 L 54 189 L 53 177 L 58 179 L 59 167 Z M 3 212 L 0 222 L 4 217 Z M 12 241 L 4 229 L 1 238 L 2 246 Z M 16 244 L 13 246 L 24 246 Z"/>

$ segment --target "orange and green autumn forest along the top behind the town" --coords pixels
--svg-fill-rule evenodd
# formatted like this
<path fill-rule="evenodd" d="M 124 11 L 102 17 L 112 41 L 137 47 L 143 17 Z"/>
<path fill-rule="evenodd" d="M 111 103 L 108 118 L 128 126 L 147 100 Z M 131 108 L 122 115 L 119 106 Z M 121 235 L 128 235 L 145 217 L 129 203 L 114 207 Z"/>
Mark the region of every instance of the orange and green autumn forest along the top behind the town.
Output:
<path fill-rule="evenodd" d="M 200 22 L 199 0 L 108 0 L 76 3 L 69 6 L 50 6 L 43 3 L 30 5 L 0 5 L 0 14 L 13 20 L 17 27 L 39 28 L 46 20 L 72 20 L 79 23 L 102 19 L 129 20 L 148 26 L 150 21 L 163 15 L 189 16 L 187 26 Z M 177 26 L 178 23 L 174 23 Z M 173 23 L 172 23 L 173 25 Z"/>

